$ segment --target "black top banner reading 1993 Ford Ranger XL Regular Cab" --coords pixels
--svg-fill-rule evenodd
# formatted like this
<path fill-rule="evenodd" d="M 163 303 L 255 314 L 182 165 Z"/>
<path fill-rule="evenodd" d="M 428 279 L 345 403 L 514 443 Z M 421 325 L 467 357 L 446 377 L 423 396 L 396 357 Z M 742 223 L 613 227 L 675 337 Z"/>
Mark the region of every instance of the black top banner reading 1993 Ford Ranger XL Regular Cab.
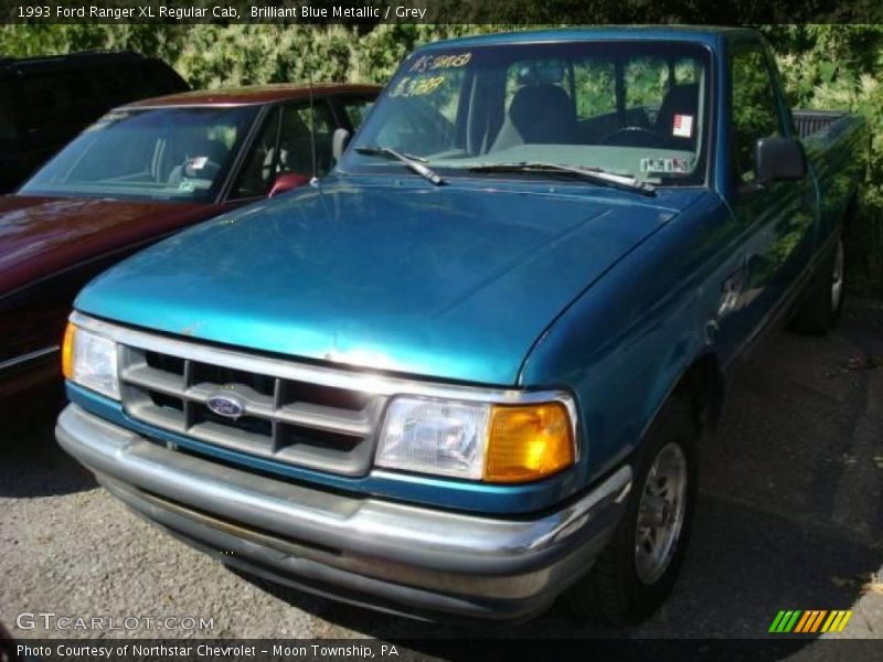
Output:
<path fill-rule="evenodd" d="M 2 0 L 0 23 L 875 23 L 880 0 Z"/>

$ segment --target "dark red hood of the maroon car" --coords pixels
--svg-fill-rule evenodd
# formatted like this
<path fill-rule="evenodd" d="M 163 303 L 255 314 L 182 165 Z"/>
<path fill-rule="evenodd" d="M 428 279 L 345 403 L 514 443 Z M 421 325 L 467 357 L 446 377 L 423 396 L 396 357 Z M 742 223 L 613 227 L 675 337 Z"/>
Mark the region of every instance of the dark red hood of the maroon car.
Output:
<path fill-rule="evenodd" d="M 0 296 L 221 211 L 216 204 L 0 196 Z"/>

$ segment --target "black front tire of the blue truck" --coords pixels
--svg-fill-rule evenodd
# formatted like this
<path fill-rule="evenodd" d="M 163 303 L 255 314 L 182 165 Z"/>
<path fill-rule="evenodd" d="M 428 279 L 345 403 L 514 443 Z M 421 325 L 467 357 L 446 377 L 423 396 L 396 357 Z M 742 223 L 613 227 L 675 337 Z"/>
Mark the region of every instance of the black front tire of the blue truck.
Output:
<path fill-rule="evenodd" d="M 698 494 L 696 440 L 690 401 L 672 397 L 642 444 L 623 520 L 588 574 L 564 596 L 571 610 L 581 620 L 614 626 L 637 623 L 653 613 L 671 592 L 692 530 Z M 681 473 L 685 485 L 682 491 L 678 490 L 678 481 L 670 480 L 667 485 L 671 494 L 680 493 L 682 510 L 670 504 L 668 514 L 660 513 L 659 508 L 647 508 L 650 504 L 648 498 L 651 496 L 648 485 L 659 485 L 657 462 L 660 458 L 666 460 L 668 470 L 683 462 Z M 659 504 L 658 499 L 656 504 Z M 653 510 L 657 516 L 680 517 L 680 525 L 671 538 L 668 553 L 660 555 L 657 564 L 648 564 L 647 544 L 641 545 L 643 554 L 639 553 L 639 520 L 646 522 L 652 516 Z M 664 528 L 664 525 L 660 528 Z M 645 528 L 641 527 L 641 531 Z M 664 541 L 666 537 L 657 540 Z M 662 547 L 666 546 L 659 546 Z"/>

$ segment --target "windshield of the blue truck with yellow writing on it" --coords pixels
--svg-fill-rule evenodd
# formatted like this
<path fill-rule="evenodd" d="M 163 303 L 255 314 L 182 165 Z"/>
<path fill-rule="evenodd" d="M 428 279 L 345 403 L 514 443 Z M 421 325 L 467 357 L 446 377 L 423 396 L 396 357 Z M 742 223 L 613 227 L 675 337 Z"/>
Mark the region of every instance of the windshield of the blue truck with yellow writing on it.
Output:
<path fill-rule="evenodd" d="M 683 42 L 430 49 L 384 92 L 341 171 L 389 169 L 389 148 L 436 171 L 550 177 L 555 164 L 652 184 L 704 182 L 709 52 Z M 361 150 L 360 150 L 361 148 Z M 361 151 L 361 153 L 360 153 Z"/>

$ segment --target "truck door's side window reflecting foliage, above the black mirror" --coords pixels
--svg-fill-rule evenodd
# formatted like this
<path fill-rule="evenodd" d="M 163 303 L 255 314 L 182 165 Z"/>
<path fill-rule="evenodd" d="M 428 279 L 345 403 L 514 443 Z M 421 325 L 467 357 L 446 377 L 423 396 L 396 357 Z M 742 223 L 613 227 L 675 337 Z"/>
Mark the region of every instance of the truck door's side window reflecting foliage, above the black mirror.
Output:
<path fill-rule="evenodd" d="M 733 82 L 733 163 L 737 181 L 755 179 L 754 149 L 758 138 L 781 131 L 769 66 L 759 45 L 736 46 L 730 60 Z"/>

